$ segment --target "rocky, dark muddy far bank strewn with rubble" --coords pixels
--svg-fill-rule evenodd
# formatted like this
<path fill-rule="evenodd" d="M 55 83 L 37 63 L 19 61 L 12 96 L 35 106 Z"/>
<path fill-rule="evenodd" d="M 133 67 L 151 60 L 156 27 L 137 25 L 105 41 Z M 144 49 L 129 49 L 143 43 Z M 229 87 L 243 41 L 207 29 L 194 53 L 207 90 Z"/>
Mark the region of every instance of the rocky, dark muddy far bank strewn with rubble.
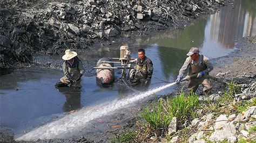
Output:
<path fill-rule="evenodd" d="M 176 28 L 230 1 L 4 1 L 0 7 L 1 74 L 59 55 Z"/>

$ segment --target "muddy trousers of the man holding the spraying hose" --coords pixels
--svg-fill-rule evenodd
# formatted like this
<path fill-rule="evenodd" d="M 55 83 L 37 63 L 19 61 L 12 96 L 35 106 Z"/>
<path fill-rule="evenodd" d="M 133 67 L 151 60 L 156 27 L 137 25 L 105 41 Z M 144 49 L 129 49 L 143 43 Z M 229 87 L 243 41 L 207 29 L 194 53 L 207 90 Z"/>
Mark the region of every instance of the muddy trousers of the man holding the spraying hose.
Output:
<path fill-rule="evenodd" d="M 199 85 L 203 85 L 203 91 L 205 92 L 205 94 L 207 96 L 209 96 L 211 94 L 211 83 L 207 78 L 199 78 L 199 79 L 191 79 L 188 80 L 188 90 L 193 90 L 193 92 L 197 91 L 197 88 Z"/>

